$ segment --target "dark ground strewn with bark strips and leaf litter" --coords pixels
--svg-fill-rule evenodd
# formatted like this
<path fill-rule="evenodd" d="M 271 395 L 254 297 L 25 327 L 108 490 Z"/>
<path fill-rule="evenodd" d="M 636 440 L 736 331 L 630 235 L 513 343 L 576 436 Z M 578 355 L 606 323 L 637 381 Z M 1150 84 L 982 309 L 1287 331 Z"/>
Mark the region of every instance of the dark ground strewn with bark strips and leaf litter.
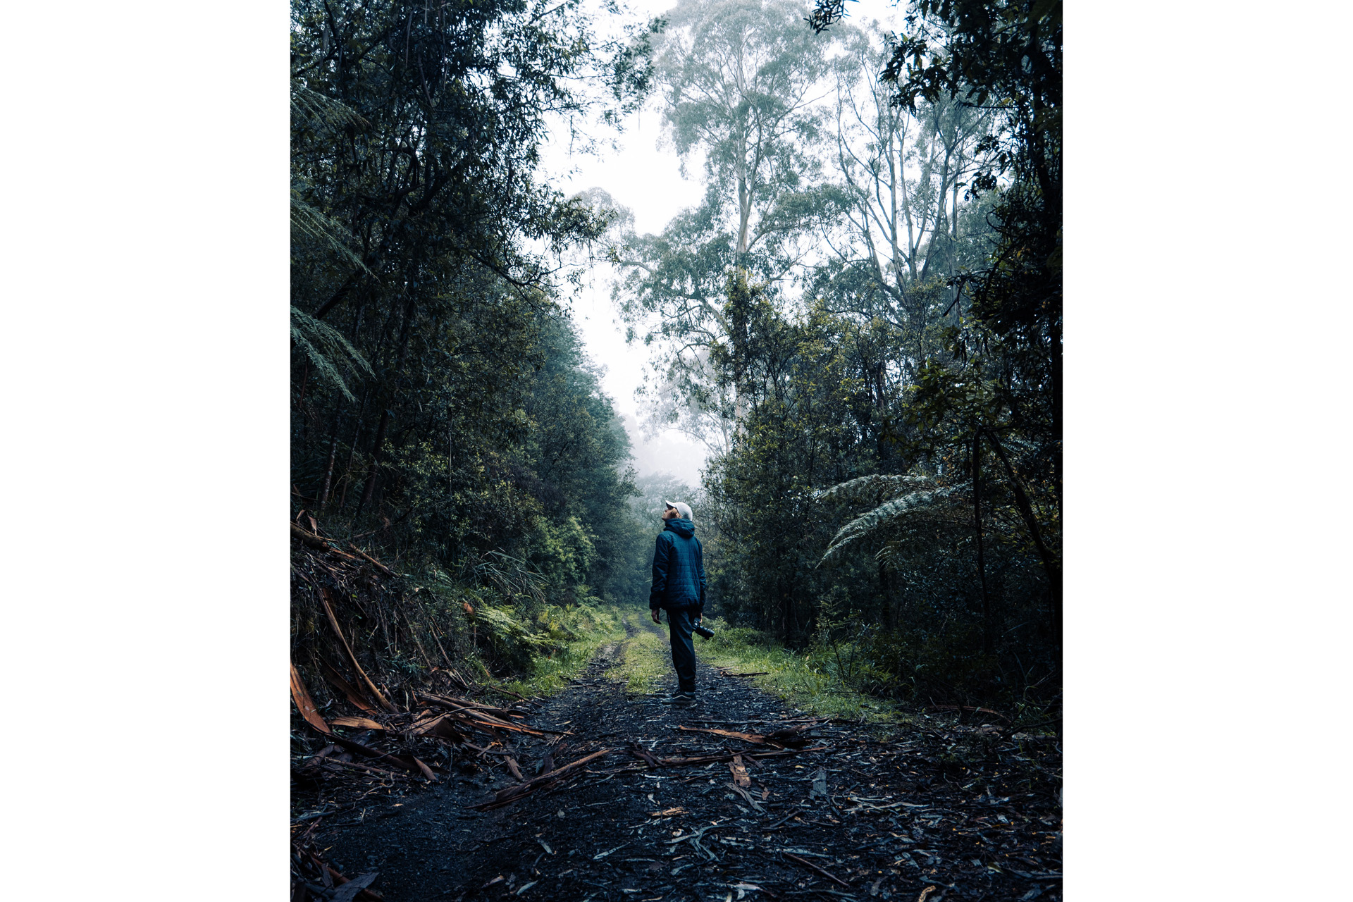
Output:
<path fill-rule="evenodd" d="M 326 875 L 294 898 L 1061 898 L 1058 737 L 962 711 L 824 721 L 704 661 L 701 705 L 667 707 L 626 669 L 666 626 L 636 613 L 626 630 L 572 686 L 518 706 L 556 733 L 457 749 L 436 783 L 377 772 L 364 795 L 304 790 L 326 814 L 294 834 L 353 880 Z M 652 688 L 674 687 L 668 664 Z"/>

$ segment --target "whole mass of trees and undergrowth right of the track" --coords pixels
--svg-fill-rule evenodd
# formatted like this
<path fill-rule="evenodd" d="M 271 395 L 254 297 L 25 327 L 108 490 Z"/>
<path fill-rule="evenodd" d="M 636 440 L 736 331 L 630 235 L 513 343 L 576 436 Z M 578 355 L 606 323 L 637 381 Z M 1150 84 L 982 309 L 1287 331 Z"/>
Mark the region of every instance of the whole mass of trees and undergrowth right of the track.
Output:
<path fill-rule="evenodd" d="M 653 415 L 716 450 L 718 603 L 874 691 L 1055 695 L 1061 5 L 733 5 L 683 4 L 656 61 L 706 201 L 616 254 Z"/>

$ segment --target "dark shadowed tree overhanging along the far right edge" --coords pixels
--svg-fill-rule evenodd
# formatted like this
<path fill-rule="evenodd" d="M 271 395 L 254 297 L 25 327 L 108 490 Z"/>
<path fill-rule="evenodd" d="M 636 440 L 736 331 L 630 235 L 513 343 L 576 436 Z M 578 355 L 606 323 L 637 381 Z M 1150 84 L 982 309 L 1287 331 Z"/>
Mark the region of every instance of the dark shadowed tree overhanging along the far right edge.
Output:
<path fill-rule="evenodd" d="M 839 20 L 843 8 L 843 0 L 819 0 L 815 28 Z M 989 203 L 990 250 L 948 279 L 955 306 L 966 303 L 969 315 L 946 330 L 947 353 L 923 362 L 907 421 L 915 448 L 959 462 L 971 481 L 984 606 L 988 515 L 981 496 L 1005 492 L 1005 514 L 1024 527 L 1022 541 L 1042 567 L 1054 646 L 1061 629 L 1061 62 L 1059 0 L 912 0 L 907 34 L 896 38 L 882 69 L 893 103 L 911 114 L 947 103 L 993 122 L 977 145 L 988 151 L 985 165 L 969 179 Z M 994 469 L 1003 484 L 984 488 L 984 469 Z M 992 500 L 1000 511 L 999 496 Z"/>

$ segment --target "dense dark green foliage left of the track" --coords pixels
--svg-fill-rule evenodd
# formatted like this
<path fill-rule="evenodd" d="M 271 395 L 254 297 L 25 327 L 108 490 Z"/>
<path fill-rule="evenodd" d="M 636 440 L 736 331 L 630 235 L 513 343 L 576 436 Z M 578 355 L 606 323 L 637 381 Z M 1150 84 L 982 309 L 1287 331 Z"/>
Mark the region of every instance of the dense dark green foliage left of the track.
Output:
<path fill-rule="evenodd" d="M 559 300 L 606 218 L 537 165 L 643 96 L 651 30 L 292 4 L 292 514 L 472 611 L 490 657 L 545 606 L 635 591 L 629 442 Z"/>

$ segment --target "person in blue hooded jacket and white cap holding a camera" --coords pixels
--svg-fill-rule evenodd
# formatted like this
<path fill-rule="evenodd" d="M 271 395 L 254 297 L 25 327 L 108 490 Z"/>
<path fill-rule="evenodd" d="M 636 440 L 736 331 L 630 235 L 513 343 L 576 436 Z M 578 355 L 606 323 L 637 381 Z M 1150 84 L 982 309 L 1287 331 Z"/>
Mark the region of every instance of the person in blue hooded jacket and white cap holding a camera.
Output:
<path fill-rule="evenodd" d="M 705 611 L 705 556 L 695 538 L 690 504 L 667 500 L 663 504 L 663 531 L 653 549 L 648 611 L 655 623 L 662 623 L 658 610 L 664 609 L 671 632 L 678 687 L 663 705 L 686 707 L 695 703 L 695 645 L 690 636 Z"/>

